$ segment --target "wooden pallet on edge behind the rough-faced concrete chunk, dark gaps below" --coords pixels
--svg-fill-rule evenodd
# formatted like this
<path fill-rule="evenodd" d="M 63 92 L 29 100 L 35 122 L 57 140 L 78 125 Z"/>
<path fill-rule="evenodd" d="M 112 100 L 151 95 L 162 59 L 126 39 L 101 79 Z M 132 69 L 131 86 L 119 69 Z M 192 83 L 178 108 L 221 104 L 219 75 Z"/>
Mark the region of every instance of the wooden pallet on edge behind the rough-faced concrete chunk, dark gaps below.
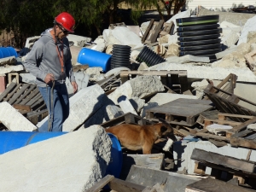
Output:
<path fill-rule="evenodd" d="M 122 70 L 120 71 L 120 79 L 122 84 L 124 84 L 127 80 L 137 77 L 137 75 L 155 75 L 159 76 L 162 84 L 166 85 L 167 88 L 171 90 L 174 86 L 178 86 L 179 93 L 183 93 L 188 88 L 188 79 L 187 79 L 187 70 L 150 70 L 150 71 L 128 71 Z"/>

